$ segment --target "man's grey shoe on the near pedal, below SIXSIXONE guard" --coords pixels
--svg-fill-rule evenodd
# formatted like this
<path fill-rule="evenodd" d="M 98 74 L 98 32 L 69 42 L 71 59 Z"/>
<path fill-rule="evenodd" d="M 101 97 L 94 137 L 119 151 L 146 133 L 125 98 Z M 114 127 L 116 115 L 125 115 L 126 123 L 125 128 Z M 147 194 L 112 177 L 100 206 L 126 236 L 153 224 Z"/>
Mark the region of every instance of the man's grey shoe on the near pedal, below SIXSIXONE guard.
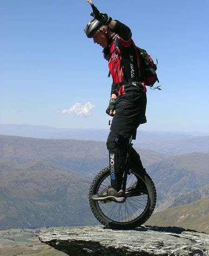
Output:
<path fill-rule="evenodd" d="M 91 196 L 92 200 L 104 201 L 112 200 L 114 202 L 125 202 L 125 193 L 122 189 L 119 192 L 115 191 L 111 186 L 104 189 L 101 193 Z"/>

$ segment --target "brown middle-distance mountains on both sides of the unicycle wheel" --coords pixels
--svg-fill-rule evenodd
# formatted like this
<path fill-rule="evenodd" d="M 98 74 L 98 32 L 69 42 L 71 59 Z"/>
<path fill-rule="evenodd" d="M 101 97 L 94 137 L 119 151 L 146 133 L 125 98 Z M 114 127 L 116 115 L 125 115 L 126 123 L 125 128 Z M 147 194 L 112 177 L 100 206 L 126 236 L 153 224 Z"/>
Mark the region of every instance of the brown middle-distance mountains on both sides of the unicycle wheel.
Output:
<path fill-rule="evenodd" d="M 156 184 L 159 209 L 208 196 L 204 188 L 200 196 L 194 191 L 209 184 L 209 153 L 137 151 Z M 107 165 L 105 142 L 0 135 L 0 229 L 97 223 L 88 190 Z"/>

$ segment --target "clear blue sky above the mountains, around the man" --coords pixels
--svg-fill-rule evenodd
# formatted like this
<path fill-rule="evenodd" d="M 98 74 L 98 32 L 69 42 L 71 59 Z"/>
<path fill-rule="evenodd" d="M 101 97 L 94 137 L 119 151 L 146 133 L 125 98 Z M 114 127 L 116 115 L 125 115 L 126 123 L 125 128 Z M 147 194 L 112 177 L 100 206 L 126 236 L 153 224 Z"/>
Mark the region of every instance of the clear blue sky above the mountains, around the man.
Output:
<path fill-rule="evenodd" d="M 148 88 L 142 129 L 209 132 L 209 1 L 93 2 L 158 59 L 163 90 Z M 0 6 L 0 124 L 108 128 L 111 78 L 102 48 L 83 32 L 89 4 L 1 0 Z"/>

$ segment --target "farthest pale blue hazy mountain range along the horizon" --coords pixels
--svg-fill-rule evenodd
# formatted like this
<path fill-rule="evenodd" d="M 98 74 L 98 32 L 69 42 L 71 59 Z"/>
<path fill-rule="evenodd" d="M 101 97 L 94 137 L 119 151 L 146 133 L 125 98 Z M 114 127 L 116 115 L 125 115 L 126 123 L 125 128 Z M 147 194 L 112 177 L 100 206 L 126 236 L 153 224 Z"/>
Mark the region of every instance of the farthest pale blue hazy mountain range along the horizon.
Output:
<path fill-rule="evenodd" d="M 0 124 L 1 135 L 33 138 L 106 141 L 108 133 L 108 129 L 71 129 L 39 125 Z M 134 145 L 138 148 L 154 149 L 163 154 L 209 153 L 209 133 L 151 132 L 139 128 Z"/>

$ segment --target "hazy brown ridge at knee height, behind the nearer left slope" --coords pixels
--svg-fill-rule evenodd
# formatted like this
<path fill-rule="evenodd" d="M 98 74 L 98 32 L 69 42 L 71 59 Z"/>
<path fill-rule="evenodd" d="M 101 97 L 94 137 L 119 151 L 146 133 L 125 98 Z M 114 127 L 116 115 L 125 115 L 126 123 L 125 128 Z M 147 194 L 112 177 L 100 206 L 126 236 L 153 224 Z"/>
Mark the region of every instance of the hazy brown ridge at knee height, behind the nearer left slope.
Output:
<path fill-rule="evenodd" d="M 141 150 L 145 167 L 160 162 L 164 154 Z M 109 164 L 105 142 L 49 140 L 0 135 L 0 174 L 7 169 L 65 168 L 93 178 Z"/>

